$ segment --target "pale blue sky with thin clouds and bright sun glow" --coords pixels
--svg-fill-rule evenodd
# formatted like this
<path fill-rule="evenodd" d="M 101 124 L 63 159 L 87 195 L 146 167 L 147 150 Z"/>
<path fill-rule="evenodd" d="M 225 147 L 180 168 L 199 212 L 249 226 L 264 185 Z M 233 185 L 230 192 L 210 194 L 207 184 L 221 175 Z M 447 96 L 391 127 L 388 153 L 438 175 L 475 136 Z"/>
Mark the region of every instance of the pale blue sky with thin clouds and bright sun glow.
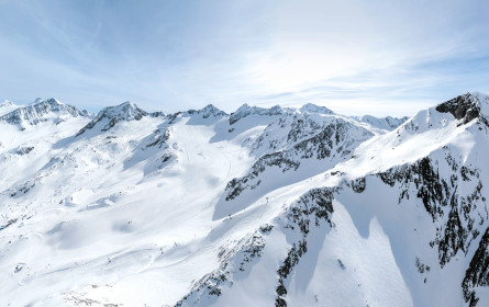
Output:
<path fill-rule="evenodd" d="M 412 115 L 489 93 L 489 1 L 0 0 L 0 99 Z"/>

